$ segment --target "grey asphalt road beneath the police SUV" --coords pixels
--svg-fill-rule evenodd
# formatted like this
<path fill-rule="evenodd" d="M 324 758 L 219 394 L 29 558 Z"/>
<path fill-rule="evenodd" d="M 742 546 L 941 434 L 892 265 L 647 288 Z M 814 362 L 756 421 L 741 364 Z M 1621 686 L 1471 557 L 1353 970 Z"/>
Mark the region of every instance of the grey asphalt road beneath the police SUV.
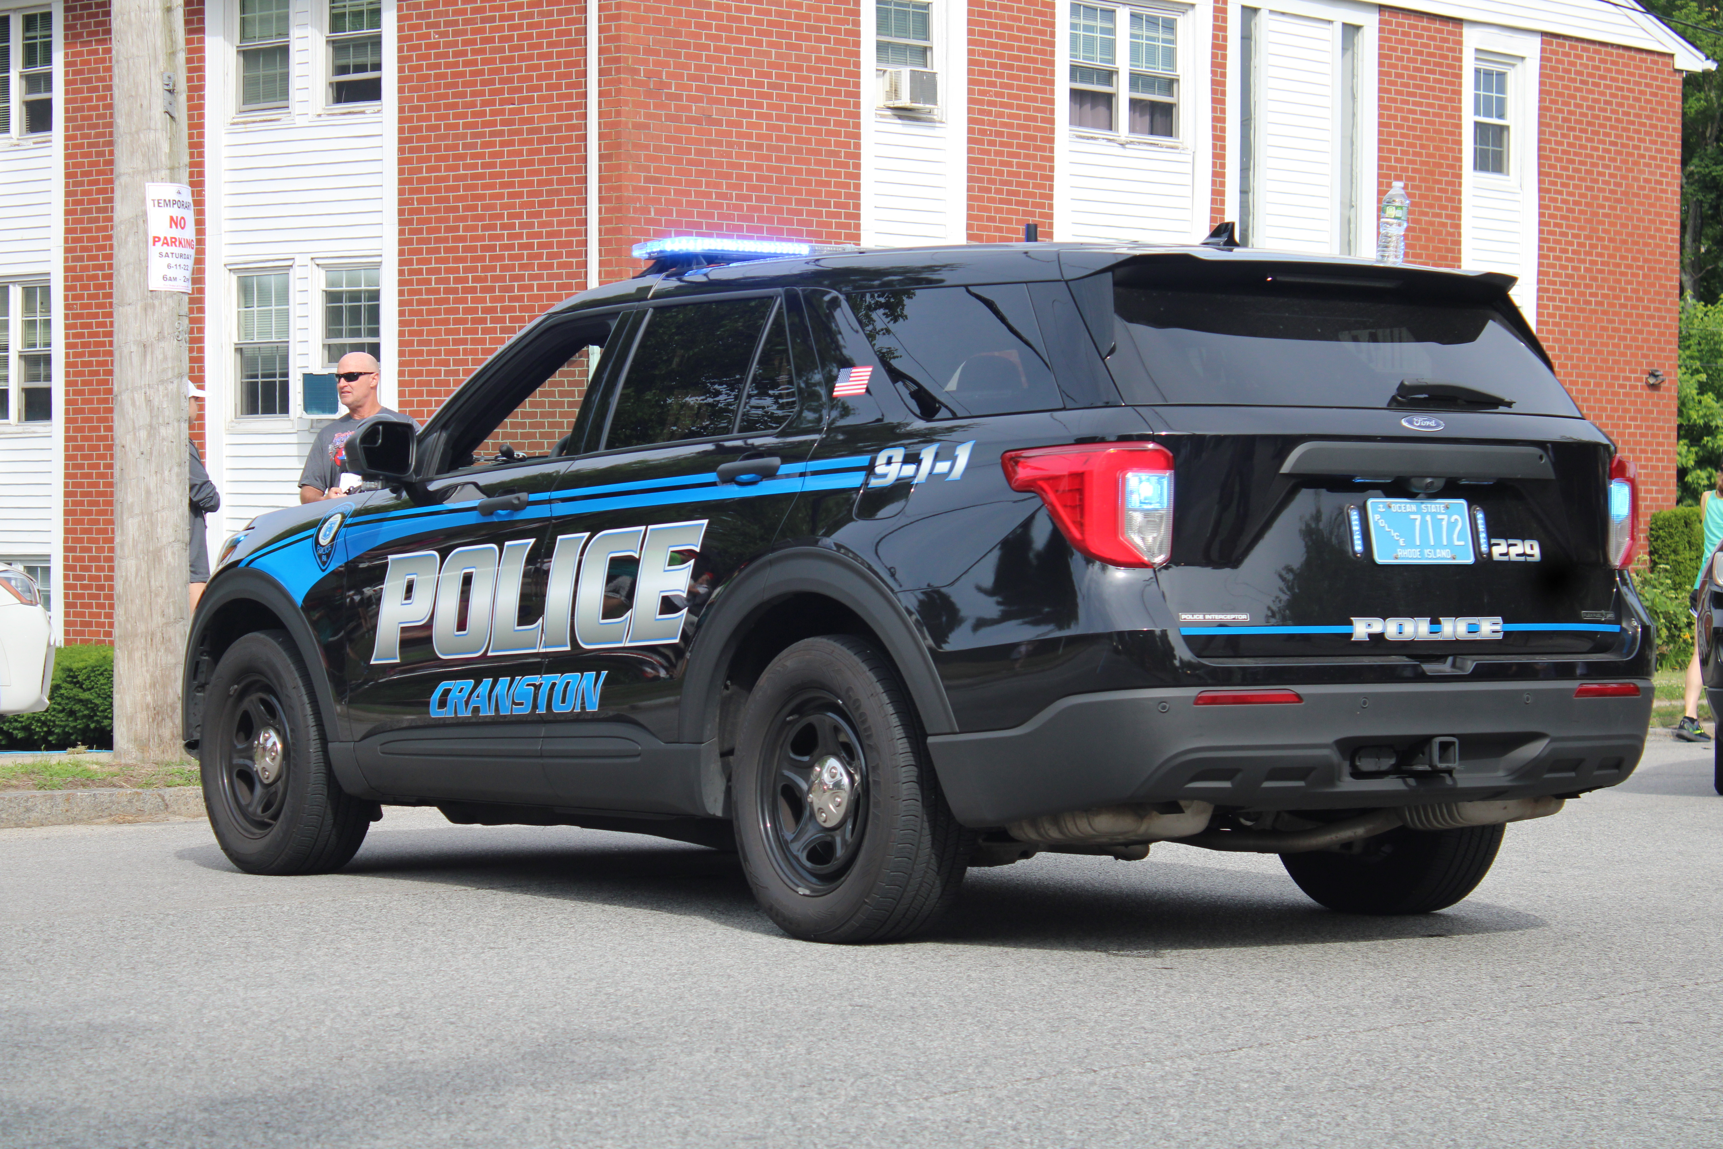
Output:
<path fill-rule="evenodd" d="M 260 879 L 202 822 L 0 830 L 0 1142 L 1723 1146 L 1720 879 L 1668 741 L 1401 920 L 1156 846 L 832 947 L 646 837 L 391 810 Z"/>

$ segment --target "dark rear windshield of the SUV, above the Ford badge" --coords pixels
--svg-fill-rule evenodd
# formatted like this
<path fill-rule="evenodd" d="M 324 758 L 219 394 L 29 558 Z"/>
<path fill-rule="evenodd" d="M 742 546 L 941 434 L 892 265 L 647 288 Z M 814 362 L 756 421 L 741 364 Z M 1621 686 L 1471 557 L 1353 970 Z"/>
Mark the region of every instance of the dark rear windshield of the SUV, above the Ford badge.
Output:
<path fill-rule="evenodd" d="M 1113 357 L 1127 403 L 1578 415 L 1537 351 L 1484 301 L 1263 277 L 1216 289 L 1118 283 L 1113 308 L 1129 345 Z"/>

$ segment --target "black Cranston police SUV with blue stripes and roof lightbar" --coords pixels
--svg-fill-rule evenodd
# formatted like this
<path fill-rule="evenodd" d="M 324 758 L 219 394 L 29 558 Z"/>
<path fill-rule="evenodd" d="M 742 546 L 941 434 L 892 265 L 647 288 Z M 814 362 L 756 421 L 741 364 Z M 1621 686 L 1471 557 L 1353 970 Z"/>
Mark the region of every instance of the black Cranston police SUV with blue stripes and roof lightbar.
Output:
<path fill-rule="evenodd" d="M 215 835 L 305 873 L 383 804 L 656 834 L 832 942 L 1161 841 L 1449 906 L 1652 705 L 1633 467 L 1511 283 L 663 245 L 358 429 L 376 489 L 227 543 L 184 672 Z"/>

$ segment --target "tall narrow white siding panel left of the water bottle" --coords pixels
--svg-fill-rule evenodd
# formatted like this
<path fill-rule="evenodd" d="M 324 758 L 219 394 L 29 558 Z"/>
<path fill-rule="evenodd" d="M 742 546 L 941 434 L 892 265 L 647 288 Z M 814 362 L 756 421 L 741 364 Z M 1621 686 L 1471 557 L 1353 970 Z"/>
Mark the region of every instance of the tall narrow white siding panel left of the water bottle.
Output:
<path fill-rule="evenodd" d="M 1253 243 L 1334 252 L 1334 24 L 1268 12 L 1261 207 Z"/>

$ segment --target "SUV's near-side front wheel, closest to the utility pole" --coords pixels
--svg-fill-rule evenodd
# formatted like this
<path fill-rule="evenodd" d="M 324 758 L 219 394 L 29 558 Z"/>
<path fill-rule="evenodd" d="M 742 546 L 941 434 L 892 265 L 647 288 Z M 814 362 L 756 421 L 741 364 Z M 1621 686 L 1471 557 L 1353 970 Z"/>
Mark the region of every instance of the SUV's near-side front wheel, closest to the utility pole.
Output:
<path fill-rule="evenodd" d="M 376 803 L 329 770 L 310 675 L 284 630 L 227 648 L 205 693 L 198 761 L 210 829 L 246 873 L 329 873 L 365 841 Z"/>

